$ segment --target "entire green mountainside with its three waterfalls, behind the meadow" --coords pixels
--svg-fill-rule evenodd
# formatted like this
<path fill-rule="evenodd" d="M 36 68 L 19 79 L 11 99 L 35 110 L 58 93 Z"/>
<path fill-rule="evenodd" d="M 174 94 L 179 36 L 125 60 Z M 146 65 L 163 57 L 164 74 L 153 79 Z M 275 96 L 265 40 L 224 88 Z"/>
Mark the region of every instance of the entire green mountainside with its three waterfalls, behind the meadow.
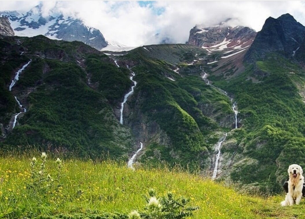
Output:
<path fill-rule="evenodd" d="M 272 32 L 277 23 L 264 26 Z M 272 52 L 247 63 L 247 51 L 258 47 L 237 33 L 209 48 L 162 44 L 105 53 L 41 35 L 0 39 L 0 148 L 133 157 L 200 170 L 247 191 L 281 192 L 288 165 L 305 166 L 302 45 L 290 57 L 266 44 Z"/>

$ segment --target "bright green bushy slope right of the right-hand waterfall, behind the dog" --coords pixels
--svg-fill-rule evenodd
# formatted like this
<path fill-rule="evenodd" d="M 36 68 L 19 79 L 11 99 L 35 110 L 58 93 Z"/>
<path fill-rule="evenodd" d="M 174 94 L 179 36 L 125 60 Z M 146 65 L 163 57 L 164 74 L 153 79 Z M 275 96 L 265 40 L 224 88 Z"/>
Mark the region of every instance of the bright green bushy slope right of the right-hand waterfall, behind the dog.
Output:
<path fill-rule="evenodd" d="M 298 64 L 273 53 L 238 77 L 215 82 L 234 93 L 242 119 L 243 136 L 223 150 L 234 163 L 227 166 L 232 180 L 278 192 L 287 167 L 305 165 L 304 76 Z"/>

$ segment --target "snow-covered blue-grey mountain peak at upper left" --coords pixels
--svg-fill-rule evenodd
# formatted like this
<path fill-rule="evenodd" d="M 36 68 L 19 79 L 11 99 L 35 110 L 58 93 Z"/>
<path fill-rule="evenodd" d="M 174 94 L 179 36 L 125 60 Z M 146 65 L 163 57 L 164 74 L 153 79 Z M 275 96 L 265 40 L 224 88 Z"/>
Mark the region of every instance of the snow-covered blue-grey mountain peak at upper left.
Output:
<path fill-rule="evenodd" d="M 102 33 L 93 27 L 88 27 L 80 19 L 63 16 L 53 12 L 44 17 L 42 5 L 37 5 L 26 13 L 17 11 L 2 11 L 0 16 L 7 17 L 17 36 L 45 35 L 51 39 L 64 41 L 80 41 L 101 50 L 107 46 Z"/>

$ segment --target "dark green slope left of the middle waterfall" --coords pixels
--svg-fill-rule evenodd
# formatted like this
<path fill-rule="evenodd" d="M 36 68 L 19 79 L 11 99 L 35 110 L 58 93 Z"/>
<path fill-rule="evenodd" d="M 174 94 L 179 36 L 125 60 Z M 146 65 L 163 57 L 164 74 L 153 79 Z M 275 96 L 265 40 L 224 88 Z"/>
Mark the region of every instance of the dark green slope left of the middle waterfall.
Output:
<path fill-rule="evenodd" d="M 129 89 L 129 71 L 114 67 L 111 59 L 79 42 L 58 42 L 38 36 L 6 38 L 2 43 L 5 44 L 2 51 L 11 49 L 1 54 L 3 90 L 20 64 L 32 60 L 12 92 L 6 90 L 2 96 L 5 107 L 1 123 L 8 127 L 5 147 L 39 144 L 79 156 L 109 152 L 113 157 L 127 159 L 134 138 L 119 124 L 111 105 L 120 101 Z M 21 56 L 20 50 L 24 51 Z M 86 68 L 78 64 L 83 60 L 88 62 Z M 92 75 L 96 87 L 88 84 L 87 74 Z M 107 86 L 103 86 L 105 78 Z M 20 111 L 13 95 L 27 112 L 12 130 L 8 118 Z"/>

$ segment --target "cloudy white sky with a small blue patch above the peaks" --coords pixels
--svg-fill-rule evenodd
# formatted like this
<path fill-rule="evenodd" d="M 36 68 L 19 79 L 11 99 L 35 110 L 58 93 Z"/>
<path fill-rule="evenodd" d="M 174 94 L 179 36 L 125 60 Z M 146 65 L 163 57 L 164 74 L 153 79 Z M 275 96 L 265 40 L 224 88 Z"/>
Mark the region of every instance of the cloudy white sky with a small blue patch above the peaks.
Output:
<path fill-rule="evenodd" d="M 40 1 L 0 1 L 0 10 L 27 11 Z M 234 25 L 260 31 L 272 16 L 290 13 L 305 24 L 300 1 L 42 1 L 44 15 L 61 12 L 99 29 L 106 40 L 127 46 L 155 44 L 168 37 L 185 43 L 195 25 L 210 26 L 233 18 Z M 159 33 L 159 38 L 155 35 Z"/>

